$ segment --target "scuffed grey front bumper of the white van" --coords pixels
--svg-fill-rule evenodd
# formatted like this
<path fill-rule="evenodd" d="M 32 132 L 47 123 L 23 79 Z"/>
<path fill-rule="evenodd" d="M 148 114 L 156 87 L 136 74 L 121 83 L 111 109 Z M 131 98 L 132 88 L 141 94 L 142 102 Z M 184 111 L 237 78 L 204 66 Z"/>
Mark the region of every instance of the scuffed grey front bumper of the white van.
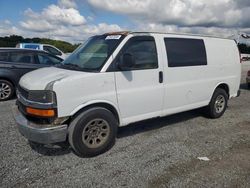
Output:
<path fill-rule="evenodd" d="M 20 111 L 15 107 L 13 115 L 18 125 L 19 132 L 28 140 L 41 144 L 52 144 L 63 142 L 67 138 L 67 125 L 40 125 L 35 124 L 25 118 Z"/>

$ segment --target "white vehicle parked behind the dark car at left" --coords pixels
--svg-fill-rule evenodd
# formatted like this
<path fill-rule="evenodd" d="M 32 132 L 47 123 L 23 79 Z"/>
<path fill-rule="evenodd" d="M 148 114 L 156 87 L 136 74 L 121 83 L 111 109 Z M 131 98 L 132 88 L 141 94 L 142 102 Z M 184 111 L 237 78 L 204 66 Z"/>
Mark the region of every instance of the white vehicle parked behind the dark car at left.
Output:
<path fill-rule="evenodd" d="M 35 49 L 35 50 L 44 50 L 62 59 L 65 59 L 67 57 L 67 55 L 64 54 L 61 50 L 49 44 L 19 43 L 16 45 L 16 48 L 30 48 L 30 49 Z"/>

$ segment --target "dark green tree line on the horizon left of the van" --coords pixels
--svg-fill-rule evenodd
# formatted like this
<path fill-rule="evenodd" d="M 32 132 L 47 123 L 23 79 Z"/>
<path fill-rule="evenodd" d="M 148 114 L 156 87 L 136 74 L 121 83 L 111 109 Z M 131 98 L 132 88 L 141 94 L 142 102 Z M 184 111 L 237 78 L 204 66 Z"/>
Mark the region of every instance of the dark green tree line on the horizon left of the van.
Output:
<path fill-rule="evenodd" d="M 64 53 L 71 53 L 80 45 L 48 38 L 23 38 L 18 35 L 0 37 L 0 47 L 15 47 L 18 43 L 50 44 L 62 50 Z"/>

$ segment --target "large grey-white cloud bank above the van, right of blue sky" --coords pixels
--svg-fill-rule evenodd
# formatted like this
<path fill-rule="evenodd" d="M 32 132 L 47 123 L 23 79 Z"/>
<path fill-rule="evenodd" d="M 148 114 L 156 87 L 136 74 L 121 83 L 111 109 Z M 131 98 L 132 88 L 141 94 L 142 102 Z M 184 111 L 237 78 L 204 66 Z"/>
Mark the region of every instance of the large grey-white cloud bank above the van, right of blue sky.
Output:
<path fill-rule="evenodd" d="M 237 38 L 250 33 L 249 0 L 88 0 L 93 8 L 123 14 L 135 30 Z"/>

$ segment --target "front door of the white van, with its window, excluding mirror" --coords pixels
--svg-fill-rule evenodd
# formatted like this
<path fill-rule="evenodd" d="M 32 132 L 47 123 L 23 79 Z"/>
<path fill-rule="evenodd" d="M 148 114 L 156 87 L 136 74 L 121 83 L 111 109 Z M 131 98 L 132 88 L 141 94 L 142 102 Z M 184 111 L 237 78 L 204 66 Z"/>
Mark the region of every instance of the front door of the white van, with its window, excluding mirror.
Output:
<path fill-rule="evenodd" d="M 135 65 L 115 72 L 117 98 L 124 124 L 160 116 L 163 108 L 162 66 L 152 36 L 130 38 L 115 59 L 131 54 Z"/>

